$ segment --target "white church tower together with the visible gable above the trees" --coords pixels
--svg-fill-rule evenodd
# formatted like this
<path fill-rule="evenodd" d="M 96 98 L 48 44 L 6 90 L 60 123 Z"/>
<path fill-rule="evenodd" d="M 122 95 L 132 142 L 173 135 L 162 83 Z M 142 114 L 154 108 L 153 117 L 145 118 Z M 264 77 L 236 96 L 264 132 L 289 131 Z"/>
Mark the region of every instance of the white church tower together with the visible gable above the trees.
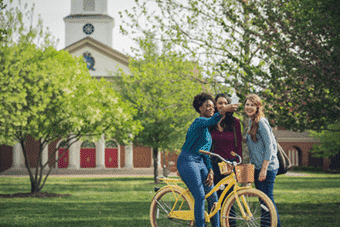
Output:
<path fill-rule="evenodd" d="M 107 0 L 71 0 L 65 21 L 65 48 L 83 56 L 90 74 L 110 78 L 118 68 L 129 73 L 129 59 L 112 48 L 114 19 L 107 14 Z"/>

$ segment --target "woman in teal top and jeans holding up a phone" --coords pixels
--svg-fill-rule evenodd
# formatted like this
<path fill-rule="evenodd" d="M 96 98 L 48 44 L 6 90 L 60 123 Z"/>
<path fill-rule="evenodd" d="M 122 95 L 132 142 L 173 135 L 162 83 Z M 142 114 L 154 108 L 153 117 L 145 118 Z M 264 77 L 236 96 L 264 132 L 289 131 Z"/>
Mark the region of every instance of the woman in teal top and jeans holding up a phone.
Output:
<path fill-rule="evenodd" d="M 238 105 L 227 105 L 219 113 L 214 114 L 213 97 L 201 93 L 195 96 L 193 106 L 200 117 L 196 118 L 188 129 L 182 152 L 177 159 L 177 170 L 195 199 L 196 227 L 204 227 L 204 197 L 214 187 L 214 173 L 209 156 L 199 151 L 210 151 L 212 139 L 208 127 L 216 125 L 227 111 L 237 110 Z M 211 210 L 217 201 L 215 192 L 208 198 L 208 209 Z M 220 226 L 219 213 L 211 218 L 211 224 L 213 227 Z"/>

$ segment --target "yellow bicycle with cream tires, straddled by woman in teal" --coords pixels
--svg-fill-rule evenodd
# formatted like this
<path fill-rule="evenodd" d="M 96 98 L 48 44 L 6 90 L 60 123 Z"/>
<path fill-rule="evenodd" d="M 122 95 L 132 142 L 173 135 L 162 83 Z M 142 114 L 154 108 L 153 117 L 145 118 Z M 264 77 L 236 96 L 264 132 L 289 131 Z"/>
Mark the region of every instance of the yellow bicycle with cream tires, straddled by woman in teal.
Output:
<path fill-rule="evenodd" d="M 241 157 L 235 153 L 234 155 L 239 159 L 238 163 L 229 162 L 221 156 L 208 151 L 200 152 L 218 157 L 232 166 L 239 165 L 242 162 Z M 159 179 L 163 180 L 167 185 L 162 188 L 155 188 L 156 194 L 151 201 L 150 207 L 151 226 L 195 226 L 194 198 L 189 189 L 178 185 L 179 183 L 184 184 L 184 182 L 176 178 Z M 233 191 L 222 204 L 223 198 L 232 186 L 234 186 Z M 206 222 L 210 222 L 210 218 L 220 210 L 222 227 L 229 227 L 230 220 L 236 220 L 236 226 L 277 226 L 276 209 L 270 198 L 251 186 L 240 187 L 237 184 L 234 172 L 215 185 L 205 198 L 208 198 L 217 190 L 223 190 L 223 192 L 210 213 L 205 211 Z"/>

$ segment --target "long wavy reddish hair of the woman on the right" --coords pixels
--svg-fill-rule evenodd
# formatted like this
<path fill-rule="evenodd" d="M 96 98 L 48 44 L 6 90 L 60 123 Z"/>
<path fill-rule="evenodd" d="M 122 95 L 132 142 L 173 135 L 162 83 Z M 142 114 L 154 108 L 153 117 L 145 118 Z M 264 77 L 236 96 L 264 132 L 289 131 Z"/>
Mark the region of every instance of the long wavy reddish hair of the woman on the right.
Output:
<path fill-rule="evenodd" d="M 256 133 L 257 133 L 257 130 L 259 129 L 260 119 L 265 117 L 263 113 L 262 100 L 256 94 L 247 95 L 246 100 L 244 101 L 244 104 L 247 102 L 247 100 L 254 103 L 255 106 L 257 107 L 257 111 L 255 115 L 251 117 L 251 126 L 248 131 L 248 134 L 250 135 L 250 138 L 252 139 L 252 141 L 256 142 L 257 141 Z"/>

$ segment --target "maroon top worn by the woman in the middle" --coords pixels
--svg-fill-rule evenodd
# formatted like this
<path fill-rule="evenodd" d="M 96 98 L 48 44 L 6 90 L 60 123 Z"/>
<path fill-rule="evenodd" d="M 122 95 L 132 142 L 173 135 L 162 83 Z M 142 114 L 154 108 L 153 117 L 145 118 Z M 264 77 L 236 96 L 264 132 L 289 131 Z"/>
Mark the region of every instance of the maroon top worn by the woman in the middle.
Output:
<path fill-rule="evenodd" d="M 240 120 L 235 118 L 235 130 L 237 137 L 237 149 L 235 150 L 234 132 L 212 131 L 211 137 L 213 140 L 215 154 L 219 154 L 224 159 L 235 159 L 236 157 L 230 154 L 231 151 L 236 152 L 242 158 L 242 134 Z M 236 158 L 237 159 L 237 158 Z"/>

